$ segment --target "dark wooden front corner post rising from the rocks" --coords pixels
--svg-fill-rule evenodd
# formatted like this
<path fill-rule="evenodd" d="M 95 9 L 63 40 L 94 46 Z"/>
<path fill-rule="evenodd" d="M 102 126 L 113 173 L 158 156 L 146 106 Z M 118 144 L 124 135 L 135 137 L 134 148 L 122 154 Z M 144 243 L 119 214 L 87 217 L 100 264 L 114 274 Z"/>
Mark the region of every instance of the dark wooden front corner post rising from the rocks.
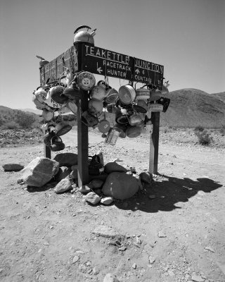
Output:
<path fill-rule="evenodd" d="M 83 54 L 82 43 L 78 44 L 78 71 L 82 71 Z M 77 104 L 77 151 L 78 151 L 78 185 L 81 187 L 89 183 L 89 128 L 82 122 L 82 113 L 88 109 L 88 92 L 79 90 L 80 102 Z"/>

